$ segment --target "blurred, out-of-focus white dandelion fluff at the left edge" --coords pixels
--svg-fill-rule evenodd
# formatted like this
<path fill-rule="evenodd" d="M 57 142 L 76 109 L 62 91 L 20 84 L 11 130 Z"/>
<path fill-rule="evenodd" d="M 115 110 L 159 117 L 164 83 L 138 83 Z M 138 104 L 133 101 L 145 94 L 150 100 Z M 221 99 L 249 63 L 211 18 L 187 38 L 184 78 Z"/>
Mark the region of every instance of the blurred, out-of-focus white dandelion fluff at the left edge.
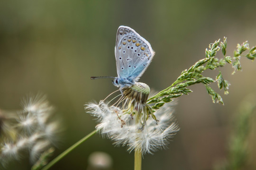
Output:
<path fill-rule="evenodd" d="M 53 117 L 54 108 L 45 96 L 28 97 L 22 105 L 23 110 L 17 111 L 16 116 L 0 112 L 0 163 L 3 166 L 11 160 L 20 160 L 25 152 L 35 163 L 43 152 L 56 145 L 59 136 L 59 121 Z"/>

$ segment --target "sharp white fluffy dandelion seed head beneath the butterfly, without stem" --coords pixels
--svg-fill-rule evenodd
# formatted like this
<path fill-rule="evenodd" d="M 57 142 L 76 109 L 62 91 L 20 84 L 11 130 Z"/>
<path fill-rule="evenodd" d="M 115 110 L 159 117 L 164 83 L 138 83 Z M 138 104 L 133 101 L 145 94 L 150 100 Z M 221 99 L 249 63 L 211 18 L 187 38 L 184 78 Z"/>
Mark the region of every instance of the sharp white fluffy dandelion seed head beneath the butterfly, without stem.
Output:
<path fill-rule="evenodd" d="M 136 83 L 122 90 L 123 95 L 115 105 L 101 101 L 89 103 L 85 109 L 99 121 L 97 130 L 112 139 L 115 145 L 127 145 L 129 151 L 139 149 L 143 154 L 153 153 L 165 148 L 179 127 L 170 105 L 153 110 L 146 103 L 149 92 L 146 84 Z M 121 102 L 123 105 L 118 107 Z"/>

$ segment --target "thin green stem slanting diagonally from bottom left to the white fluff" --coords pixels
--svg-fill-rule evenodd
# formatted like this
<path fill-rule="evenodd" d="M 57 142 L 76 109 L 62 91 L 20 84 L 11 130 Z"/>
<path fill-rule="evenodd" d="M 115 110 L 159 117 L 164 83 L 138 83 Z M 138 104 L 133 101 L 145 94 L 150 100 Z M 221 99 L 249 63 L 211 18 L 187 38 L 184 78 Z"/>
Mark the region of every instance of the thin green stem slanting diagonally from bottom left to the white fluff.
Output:
<path fill-rule="evenodd" d="M 54 160 L 50 161 L 42 170 L 48 170 L 49 168 L 51 168 L 55 163 L 57 163 L 58 161 L 60 161 L 62 158 L 64 158 L 64 156 L 66 156 L 68 153 L 70 153 L 71 151 L 73 151 L 73 149 L 75 149 L 77 146 L 79 146 L 80 144 L 82 144 L 84 141 L 86 141 L 87 139 L 89 139 L 91 136 L 95 135 L 97 132 L 97 130 L 93 130 L 90 134 L 88 134 L 87 136 L 84 136 L 82 139 L 80 139 L 78 142 L 76 142 L 75 144 L 73 144 L 72 146 L 70 146 L 68 149 L 66 149 L 63 153 L 59 154 Z"/>

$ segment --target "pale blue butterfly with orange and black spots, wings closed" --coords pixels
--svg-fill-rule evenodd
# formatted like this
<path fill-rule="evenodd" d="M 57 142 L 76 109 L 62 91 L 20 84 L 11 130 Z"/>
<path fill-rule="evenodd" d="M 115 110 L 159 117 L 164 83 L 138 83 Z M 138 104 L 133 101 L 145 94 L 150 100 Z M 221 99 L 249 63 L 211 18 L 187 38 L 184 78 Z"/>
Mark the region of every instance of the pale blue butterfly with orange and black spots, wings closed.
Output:
<path fill-rule="evenodd" d="M 118 76 L 100 76 L 91 79 L 114 78 L 113 84 L 120 89 L 130 87 L 143 75 L 154 55 L 155 51 L 146 39 L 128 26 L 119 26 L 115 46 Z"/>

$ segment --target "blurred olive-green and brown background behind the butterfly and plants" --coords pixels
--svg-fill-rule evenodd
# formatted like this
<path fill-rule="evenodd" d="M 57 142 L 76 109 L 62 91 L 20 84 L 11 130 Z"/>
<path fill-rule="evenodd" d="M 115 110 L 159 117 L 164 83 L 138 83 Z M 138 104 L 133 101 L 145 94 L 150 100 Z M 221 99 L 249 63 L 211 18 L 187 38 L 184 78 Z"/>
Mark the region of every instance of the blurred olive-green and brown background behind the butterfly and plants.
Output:
<path fill-rule="evenodd" d="M 155 58 L 140 82 L 160 91 L 204 58 L 209 43 L 219 38 L 227 37 L 230 56 L 237 43 L 256 45 L 255 7 L 255 0 L 1 1 L 0 108 L 20 109 L 26 94 L 46 94 L 65 127 L 55 157 L 94 130 L 96 122 L 83 105 L 117 90 L 110 79 L 90 76 L 117 76 L 114 46 L 120 25 L 151 43 Z M 235 75 L 230 65 L 220 69 L 231 83 L 229 95 L 211 84 L 224 106 L 212 103 L 203 85 L 192 86 L 193 93 L 179 98 L 175 117 L 181 130 L 168 149 L 144 156 L 143 170 L 211 170 L 227 157 L 238 105 L 248 94 L 256 95 L 256 63 L 246 58 L 241 63 L 243 71 Z M 215 78 L 218 71 L 204 75 Z M 256 167 L 256 121 L 251 121 L 248 169 Z M 95 135 L 52 169 L 86 170 L 89 155 L 99 151 L 111 156 L 112 170 L 132 170 L 133 153 L 126 149 Z M 12 165 L 27 170 L 24 160 Z"/>

